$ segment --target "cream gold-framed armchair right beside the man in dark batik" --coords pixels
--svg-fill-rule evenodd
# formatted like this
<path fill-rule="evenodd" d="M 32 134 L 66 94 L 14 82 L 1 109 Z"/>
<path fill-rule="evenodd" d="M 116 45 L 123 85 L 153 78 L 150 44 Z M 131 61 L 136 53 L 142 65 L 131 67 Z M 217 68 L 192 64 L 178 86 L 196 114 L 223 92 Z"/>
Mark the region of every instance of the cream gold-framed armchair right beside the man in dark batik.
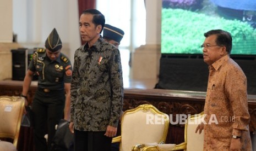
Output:
<path fill-rule="evenodd" d="M 112 143 L 120 142 L 120 151 L 139 150 L 146 144 L 164 143 L 169 126 L 169 117 L 151 104 L 142 104 L 127 110 L 122 115 L 121 136 Z"/>

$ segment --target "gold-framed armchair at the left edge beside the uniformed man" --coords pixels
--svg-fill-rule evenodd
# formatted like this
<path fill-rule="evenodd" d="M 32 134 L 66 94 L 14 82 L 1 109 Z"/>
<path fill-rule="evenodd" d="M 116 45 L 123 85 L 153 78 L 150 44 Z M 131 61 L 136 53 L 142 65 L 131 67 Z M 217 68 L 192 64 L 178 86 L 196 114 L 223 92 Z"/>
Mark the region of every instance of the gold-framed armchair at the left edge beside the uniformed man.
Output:
<path fill-rule="evenodd" d="M 25 100 L 18 96 L 0 96 L 0 150 L 17 150 L 21 118 L 23 116 Z"/>

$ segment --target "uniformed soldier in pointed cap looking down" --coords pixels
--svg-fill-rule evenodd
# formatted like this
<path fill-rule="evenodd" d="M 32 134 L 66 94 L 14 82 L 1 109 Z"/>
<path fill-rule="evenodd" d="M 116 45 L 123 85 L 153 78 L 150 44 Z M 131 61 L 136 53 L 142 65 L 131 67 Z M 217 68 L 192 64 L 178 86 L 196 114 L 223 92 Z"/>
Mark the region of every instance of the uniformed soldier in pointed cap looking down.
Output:
<path fill-rule="evenodd" d="M 48 150 L 55 135 L 55 125 L 70 118 L 70 81 L 72 66 L 61 53 L 62 42 L 54 28 L 45 41 L 46 49 L 37 49 L 29 64 L 21 96 L 26 98 L 34 73 L 39 75 L 38 89 L 32 102 L 36 150 Z M 64 109 L 65 107 L 65 109 Z M 45 131 L 46 130 L 46 131 Z M 48 140 L 44 138 L 48 133 Z"/>

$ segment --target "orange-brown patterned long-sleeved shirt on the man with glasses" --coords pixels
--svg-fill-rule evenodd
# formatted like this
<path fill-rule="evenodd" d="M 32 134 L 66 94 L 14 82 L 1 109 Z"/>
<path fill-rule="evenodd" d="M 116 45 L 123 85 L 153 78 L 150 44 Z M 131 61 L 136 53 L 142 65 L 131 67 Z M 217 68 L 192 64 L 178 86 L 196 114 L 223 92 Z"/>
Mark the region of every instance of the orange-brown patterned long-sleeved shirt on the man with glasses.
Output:
<path fill-rule="evenodd" d="M 248 124 L 247 79 L 228 55 L 209 66 L 204 114 L 204 150 L 228 150 L 232 135 L 242 150 L 252 150 Z"/>

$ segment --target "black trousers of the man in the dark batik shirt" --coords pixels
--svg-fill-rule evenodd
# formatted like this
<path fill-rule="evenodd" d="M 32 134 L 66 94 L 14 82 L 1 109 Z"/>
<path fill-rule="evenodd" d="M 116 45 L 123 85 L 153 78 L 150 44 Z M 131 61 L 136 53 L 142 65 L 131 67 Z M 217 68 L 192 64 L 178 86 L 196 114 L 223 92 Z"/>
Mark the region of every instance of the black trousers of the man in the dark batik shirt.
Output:
<path fill-rule="evenodd" d="M 74 130 L 74 151 L 111 151 L 112 137 L 104 134 L 105 131 Z"/>

